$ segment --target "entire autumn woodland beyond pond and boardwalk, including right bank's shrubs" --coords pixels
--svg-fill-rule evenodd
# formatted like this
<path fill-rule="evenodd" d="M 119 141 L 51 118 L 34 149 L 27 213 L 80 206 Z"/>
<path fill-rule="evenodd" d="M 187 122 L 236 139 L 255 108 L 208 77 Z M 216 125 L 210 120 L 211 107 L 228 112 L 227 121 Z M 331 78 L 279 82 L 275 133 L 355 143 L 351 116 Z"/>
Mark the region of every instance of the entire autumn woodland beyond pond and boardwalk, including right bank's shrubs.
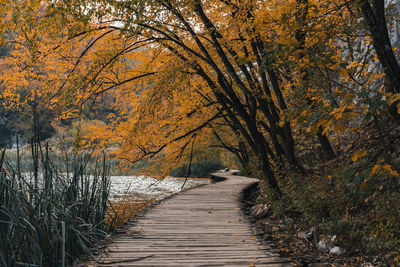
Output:
<path fill-rule="evenodd" d="M 155 177 L 227 151 L 274 216 L 399 259 L 399 1 L 0 9 L 2 146 L 94 148 Z"/>

